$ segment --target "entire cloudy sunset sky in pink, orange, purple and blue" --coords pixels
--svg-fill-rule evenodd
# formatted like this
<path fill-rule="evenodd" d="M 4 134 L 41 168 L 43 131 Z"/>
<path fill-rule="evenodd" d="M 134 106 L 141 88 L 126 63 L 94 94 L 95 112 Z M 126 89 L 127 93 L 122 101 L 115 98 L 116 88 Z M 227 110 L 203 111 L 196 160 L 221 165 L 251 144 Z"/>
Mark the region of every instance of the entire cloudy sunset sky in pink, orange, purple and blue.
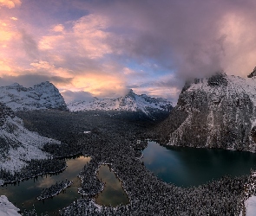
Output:
<path fill-rule="evenodd" d="M 0 86 L 175 100 L 187 79 L 253 71 L 255 11 L 254 0 L 0 0 Z"/>

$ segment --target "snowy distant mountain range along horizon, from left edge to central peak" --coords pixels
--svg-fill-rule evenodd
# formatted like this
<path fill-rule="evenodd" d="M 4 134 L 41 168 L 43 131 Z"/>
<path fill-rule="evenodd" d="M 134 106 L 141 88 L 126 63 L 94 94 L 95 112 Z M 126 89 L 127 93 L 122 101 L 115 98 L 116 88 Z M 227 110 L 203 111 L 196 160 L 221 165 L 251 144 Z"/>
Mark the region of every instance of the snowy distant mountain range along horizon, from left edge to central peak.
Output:
<path fill-rule="evenodd" d="M 18 83 L 0 87 L 0 102 L 13 111 L 57 109 L 62 111 L 137 111 L 148 117 L 154 113 L 168 113 L 172 102 L 164 98 L 152 98 L 146 94 L 137 95 L 130 90 L 127 95 L 114 99 L 94 98 L 90 101 L 75 101 L 68 105 L 56 86 L 49 81 L 33 87 L 23 87 Z"/>

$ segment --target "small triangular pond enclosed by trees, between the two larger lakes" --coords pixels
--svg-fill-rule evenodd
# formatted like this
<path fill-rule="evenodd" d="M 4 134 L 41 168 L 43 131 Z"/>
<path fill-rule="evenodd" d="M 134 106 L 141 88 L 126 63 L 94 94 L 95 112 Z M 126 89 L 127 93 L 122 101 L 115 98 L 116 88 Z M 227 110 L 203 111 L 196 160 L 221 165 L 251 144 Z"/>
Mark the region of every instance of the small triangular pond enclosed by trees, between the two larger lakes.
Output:
<path fill-rule="evenodd" d="M 118 206 L 128 204 L 128 196 L 121 186 L 121 181 L 108 165 L 102 165 L 98 178 L 105 182 L 102 193 L 96 196 L 95 202 L 101 206 Z"/>

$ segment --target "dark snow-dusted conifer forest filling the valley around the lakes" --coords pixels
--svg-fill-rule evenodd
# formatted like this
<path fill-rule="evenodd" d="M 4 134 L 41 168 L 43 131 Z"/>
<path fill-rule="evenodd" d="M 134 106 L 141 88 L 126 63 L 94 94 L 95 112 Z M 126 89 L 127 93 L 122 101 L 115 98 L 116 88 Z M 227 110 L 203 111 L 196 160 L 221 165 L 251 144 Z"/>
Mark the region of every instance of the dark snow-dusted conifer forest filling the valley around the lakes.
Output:
<path fill-rule="evenodd" d="M 61 215 L 239 215 L 247 176 L 225 176 L 200 187 L 176 187 L 157 178 L 142 164 L 141 148 L 150 137 L 154 121 L 134 118 L 135 113 L 115 111 L 30 111 L 17 112 L 25 126 L 62 144 L 45 144 L 55 162 L 82 153 L 91 160 L 81 170 L 81 198 L 61 210 Z M 108 163 L 128 194 L 126 206 L 98 208 L 92 199 L 103 183 L 98 168 Z M 35 211 L 27 215 L 35 215 Z"/>

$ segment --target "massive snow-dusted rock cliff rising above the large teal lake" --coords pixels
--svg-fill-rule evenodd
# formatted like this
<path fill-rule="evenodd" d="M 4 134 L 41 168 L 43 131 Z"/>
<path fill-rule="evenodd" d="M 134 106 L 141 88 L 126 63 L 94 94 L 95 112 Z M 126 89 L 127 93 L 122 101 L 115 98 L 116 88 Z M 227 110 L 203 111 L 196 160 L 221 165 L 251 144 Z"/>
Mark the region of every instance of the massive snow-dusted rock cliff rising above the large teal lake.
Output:
<path fill-rule="evenodd" d="M 255 81 L 225 73 L 196 79 L 158 127 L 161 138 L 172 145 L 255 151 Z"/>

